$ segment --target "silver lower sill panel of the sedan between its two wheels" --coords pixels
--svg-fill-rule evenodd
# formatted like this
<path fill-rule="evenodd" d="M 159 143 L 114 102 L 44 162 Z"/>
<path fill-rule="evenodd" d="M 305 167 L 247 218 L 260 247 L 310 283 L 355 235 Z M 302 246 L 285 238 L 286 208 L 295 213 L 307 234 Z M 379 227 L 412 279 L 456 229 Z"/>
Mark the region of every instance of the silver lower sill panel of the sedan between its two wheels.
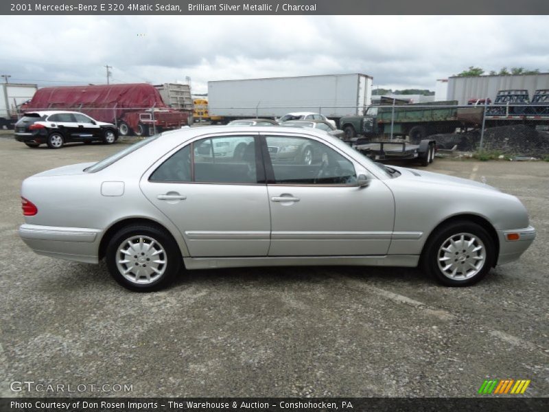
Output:
<path fill-rule="evenodd" d="M 299 256 L 275 258 L 183 258 L 187 269 L 253 266 L 401 266 L 416 267 L 419 255 Z"/>

